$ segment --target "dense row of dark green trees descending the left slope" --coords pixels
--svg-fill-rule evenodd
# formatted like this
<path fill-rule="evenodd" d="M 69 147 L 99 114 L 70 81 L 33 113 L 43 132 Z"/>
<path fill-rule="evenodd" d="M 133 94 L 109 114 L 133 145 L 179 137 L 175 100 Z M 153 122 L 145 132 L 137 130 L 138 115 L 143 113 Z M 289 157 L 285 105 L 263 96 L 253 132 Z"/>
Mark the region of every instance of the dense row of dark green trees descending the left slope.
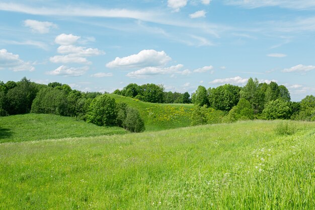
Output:
<path fill-rule="evenodd" d="M 0 82 L 0 116 L 44 113 L 71 116 L 100 126 L 145 129 L 137 109 L 99 92 L 81 92 L 58 82 L 41 85 L 23 78 Z"/>

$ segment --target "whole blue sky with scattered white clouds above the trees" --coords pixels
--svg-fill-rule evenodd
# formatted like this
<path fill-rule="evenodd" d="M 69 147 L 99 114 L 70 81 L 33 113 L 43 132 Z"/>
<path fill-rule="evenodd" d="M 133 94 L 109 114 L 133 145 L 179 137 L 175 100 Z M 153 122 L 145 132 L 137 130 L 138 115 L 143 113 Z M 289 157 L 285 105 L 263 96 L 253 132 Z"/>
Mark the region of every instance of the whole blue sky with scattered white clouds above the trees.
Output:
<path fill-rule="evenodd" d="M 0 2 L 0 81 L 113 92 L 285 85 L 315 95 L 313 0 Z"/>

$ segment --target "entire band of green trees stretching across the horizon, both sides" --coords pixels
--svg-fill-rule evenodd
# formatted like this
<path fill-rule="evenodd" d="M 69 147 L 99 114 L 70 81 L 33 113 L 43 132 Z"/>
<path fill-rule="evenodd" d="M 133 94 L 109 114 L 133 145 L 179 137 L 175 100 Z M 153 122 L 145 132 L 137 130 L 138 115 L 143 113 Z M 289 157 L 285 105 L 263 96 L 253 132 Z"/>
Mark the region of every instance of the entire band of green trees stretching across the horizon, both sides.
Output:
<path fill-rule="evenodd" d="M 155 84 L 129 84 L 122 90 L 115 90 L 114 94 L 151 103 L 193 103 L 198 118 L 196 123 L 205 118 L 203 115 L 209 112 L 208 108 L 223 111 L 222 121 L 225 122 L 255 118 L 315 120 L 314 96 L 308 95 L 301 102 L 292 102 L 285 86 L 276 82 L 259 83 L 257 78 L 250 78 L 244 87 L 225 84 L 206 89 L 199 86 L 191 98 L 187 92 L 165 92 L 163 86 Z M 116 103 L 102 93 L 84 93 L 58 82 L 42 85 L 26 78 L 19 82 L 0 81 L 0 116 L 30 112 L 72 116 L 97 125 L 118 125 L 131 131 L 144 129 L 136 109 Z"/>

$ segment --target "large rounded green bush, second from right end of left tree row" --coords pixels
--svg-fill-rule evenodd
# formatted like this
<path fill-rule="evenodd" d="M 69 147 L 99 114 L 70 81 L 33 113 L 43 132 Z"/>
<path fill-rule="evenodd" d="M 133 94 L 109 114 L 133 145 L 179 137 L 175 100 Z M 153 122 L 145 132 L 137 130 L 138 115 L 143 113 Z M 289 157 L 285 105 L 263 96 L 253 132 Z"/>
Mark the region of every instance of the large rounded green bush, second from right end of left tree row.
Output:
<path fill-rule="evenodd" d="M 96 125 L 115 125 L 117 109 L 115 99 L 101 95 L 93 99 L 90 104 L 87 121 Z"/>

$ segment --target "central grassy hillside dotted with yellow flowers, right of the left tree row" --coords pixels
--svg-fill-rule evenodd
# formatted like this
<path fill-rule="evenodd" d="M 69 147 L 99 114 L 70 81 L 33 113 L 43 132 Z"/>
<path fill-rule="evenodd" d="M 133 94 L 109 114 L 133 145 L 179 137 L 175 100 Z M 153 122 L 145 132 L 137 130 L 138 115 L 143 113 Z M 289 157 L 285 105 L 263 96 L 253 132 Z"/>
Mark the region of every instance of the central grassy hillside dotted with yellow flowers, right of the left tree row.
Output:
<path fill-rule="evenodd" d="M 117 102 L 126 102 L 139 110 L 146 131 L 165 130 L 190 125 L 193 104 L 155 104 L 139 101 L 130 97 L 108 94 Z"/>

